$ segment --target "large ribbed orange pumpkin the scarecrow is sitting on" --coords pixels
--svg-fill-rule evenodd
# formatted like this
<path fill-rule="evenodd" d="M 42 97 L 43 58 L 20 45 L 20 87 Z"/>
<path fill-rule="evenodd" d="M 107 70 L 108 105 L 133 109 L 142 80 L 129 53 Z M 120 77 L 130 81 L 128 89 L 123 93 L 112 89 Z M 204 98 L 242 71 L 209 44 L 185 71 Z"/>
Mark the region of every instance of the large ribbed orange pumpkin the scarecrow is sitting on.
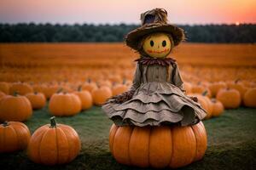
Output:
<path fill-rule="evenodd" d="M 137 167 L 183 167 L 201 160 L 207 150 L 202 122 L 188 127 L 117 127 L 112 125 L 109 147 L 119 163 Z"/>

